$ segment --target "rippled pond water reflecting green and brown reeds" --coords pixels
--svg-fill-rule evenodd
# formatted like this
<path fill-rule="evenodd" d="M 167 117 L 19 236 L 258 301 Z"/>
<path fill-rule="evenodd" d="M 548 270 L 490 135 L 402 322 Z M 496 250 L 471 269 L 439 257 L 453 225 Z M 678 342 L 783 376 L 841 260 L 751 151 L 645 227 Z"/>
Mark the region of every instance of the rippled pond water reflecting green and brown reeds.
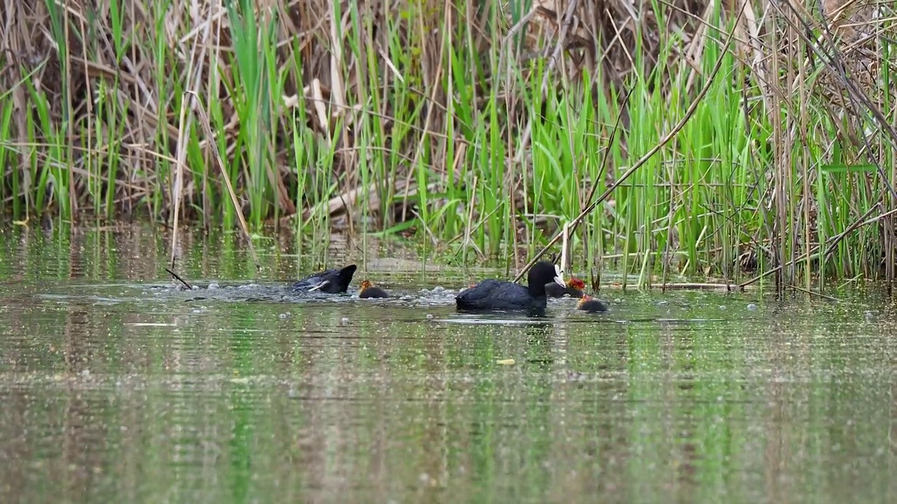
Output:
<path fill-rule="evenodd" d="M 501 272 L 368 244 L 397 299 L 300 302 L 290 239 L 0 233 L 3 502 L 886 502 L 893 306 L 605 290 L 457 314 Z M 305 264 L 308 263 L 307 267 Z M 217 288 L 205 288 L 210 283 Z M 753 306 L 752 306 L 753 305 Z"/>

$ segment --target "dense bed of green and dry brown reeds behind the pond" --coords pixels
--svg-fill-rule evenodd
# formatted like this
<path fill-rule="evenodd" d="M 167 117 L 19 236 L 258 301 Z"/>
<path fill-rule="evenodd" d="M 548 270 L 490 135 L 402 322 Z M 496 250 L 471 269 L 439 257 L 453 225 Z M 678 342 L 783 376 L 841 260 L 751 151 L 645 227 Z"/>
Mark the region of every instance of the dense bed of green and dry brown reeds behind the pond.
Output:
<path fill-rule="evenodd" d="M 893 3 L 4 2 L 19 225 L 343 227 L 519 267 L 575 223 L 596 282 L 894 278 Z"/>

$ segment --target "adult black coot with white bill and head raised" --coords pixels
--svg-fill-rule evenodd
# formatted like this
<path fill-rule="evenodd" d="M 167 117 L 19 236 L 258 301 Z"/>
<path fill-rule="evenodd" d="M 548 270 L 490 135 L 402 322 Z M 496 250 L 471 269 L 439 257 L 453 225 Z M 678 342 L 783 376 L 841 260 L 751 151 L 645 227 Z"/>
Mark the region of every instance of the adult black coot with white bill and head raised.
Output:
<path fill-rule="evenodd" d="M 527 281 L 528 287 L 514 282 L 483 280 L 459 292 L 455 306 L 459 311 L 527 310 L 541 315 L 547 303 L 545 284 L 564 284 L 560 270 L 547 261 L 536 263 L 529 270 Z"/>

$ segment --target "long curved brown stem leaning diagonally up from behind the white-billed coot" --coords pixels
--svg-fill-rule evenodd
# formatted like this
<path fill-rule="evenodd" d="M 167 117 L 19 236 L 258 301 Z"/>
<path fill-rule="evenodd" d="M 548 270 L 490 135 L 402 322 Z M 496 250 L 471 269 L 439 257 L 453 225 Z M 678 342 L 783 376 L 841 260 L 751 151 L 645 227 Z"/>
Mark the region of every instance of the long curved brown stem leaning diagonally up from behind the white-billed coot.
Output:
<path fill-rule="evenodd" d="M 741 20 L 743 13 L 745 13 L 744 4 L 742 4 L 742 8 L 738 10 L 738 16 L 736 17 L 735 26 L 738 25 L 738 22 Z M 727 53 L 727 51 L 729 50 L 729 47 L 732 45 L 732 40 L 734 39 L 734 36 L 735 36 L 735 30 L 732 30 L 727 36 L 726 44 L 719 51 L 720 55 Z M 679 122 L 676 123 L 676 125 L 673 127 L 673 129 L 669 133 L 667 133 L 663 138 L 661 138 L 657 144 L 655 144 L 653 147 L 651 147 L 651 149 L 648 152 L 646 152 L 645 155 L 641 156 L 639 161 L 635 161 L 635 163 L 633 163 L 629 169 L 626 169 L 626 171 L 624 171 L 623 174 L 619 178 L 614 180 L 614 183 L 611 184 L 610 187 L 607 187 L 607 189 L 605 189 L 605 192 L 601 196 L 598 196 L 597 200 L 589 203 L 588 206 L 582 212 L 580 212 L 579 215 L 577 215 L 575 219 L 570 221 L 570 226 L 573 229 L 575 229 L 576 226 L 579 224 L 579 222 L 581 222 L 589 213 L 592 213 L 592 211 L 595 210 L 595 208 L 597 207 L 598 204 L 605 201 L 605 199 L 607 199 L 607 196 L 610 196 L 611 193 L 613 193 L 614 190 L 618 186 L 623 184 L 623 182 L 625 182 L 627 178 L 630 178 L 631 175 L 633 173 L 635 173 L 636 169 L 639 169 L 641 167 L 641 165 L 645 164 L 646 161 L 651 159 L 654 156 L 654 154 L 656 154 L 664 145 L 666 145 L 666 143 L 669 143 L 671 140 L 673 140 L 673 138 L 675 138 L 675 135 L 678 135 L 679 131 L 682 130 L 683 126 L 685 126 L 685 124 L 688 123 L 689 119 L 692 118 L 692 116 L 694 115 L 694 111 L 698 109 L 698 104 L 700 104 L 701 100 L 704 99 L 704 96 L 707 94 L 707 91 L 710 90 L 710 85 L 713 83 L 713 80 L 716 78 L 717 74 L 719 73 L 719 68 L 722 66 L 722 63 L 723 63 L 723 57 L 720 56 L 719 59 L 717 60 L 716 65 L 713 65 L 713 71 L 710 72 L 710 75 L 707 78 L 707 82 L 704 83 L 704 87 L 701 88 L 701 92 L 699 92 L 698 96 L 696 96 L 695 99 L 692 100 L 692 103 L 688 106 L 688 109 L 685 110 L 684 116 L 681 119 L 679 119 Z M 622 114 L 621 114 L 621 117 L 622 117 Z M 620 117 L 617 117 L 617 123 L 614 126 L 614 133 L 616 132 L 616 128 L 617 128 L 617 126 L 619 126 L 619 124 L 620 124 Z M 614 140 L 614 135 L 612 134 L 610 141 L 613 142 L 613 140 Z M 599 182 L 600 182 L 600 178 L 596 178 L 595 181 L 592 183 L 592 190 L 589 191 L 590 196 L 595 193 L 595 190 L 596 190 Z M 591 198 L 589 198 L 589 199 L 591 199 Z M 527 274 L 527 271 L 529 271 L 529 268 L 533 267 L 533 265 L 535 265 L 536 262 L 538 262 L 538 260 L 541 259 L 542 256 L 544 256 L 544 254 L 548 251 L 548 249 L 552 248 L 554 246 L 554 244 L 557 243 L 558 240 L 562 238 L 562 235 L 563 235 L 563 230 L 560 230 L 556 235 L 554 235 L 554 238 L 551 241 L 549 241 L 548 244 L 545 245 L 544 248 L 542 248 L 542 250 L 537 252 L 536 256 L 533 256 L 533 258 L 529 260 L 529 263 L 527 263 L 527 265 L 524 266 L 524 268 L 522 270 L 520 270 L 520 273 L 518 273 L 517 276 L 514 277 L 514 282 L 518 282 L 521 278 L 523 278 L 523 275 Z"/>

